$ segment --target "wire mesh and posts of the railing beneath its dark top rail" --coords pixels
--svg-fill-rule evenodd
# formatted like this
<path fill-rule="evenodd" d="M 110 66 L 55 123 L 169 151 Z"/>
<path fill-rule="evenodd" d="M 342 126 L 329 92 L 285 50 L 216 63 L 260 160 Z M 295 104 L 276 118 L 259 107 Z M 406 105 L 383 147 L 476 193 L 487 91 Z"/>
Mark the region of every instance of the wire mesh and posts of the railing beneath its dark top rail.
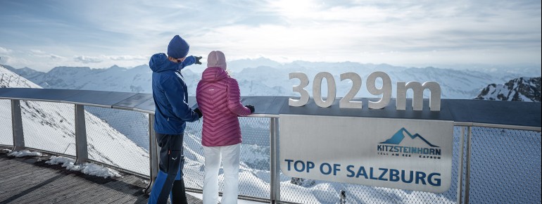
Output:
<path fill-rule="evenodd" d="M 158 172 L 158 146 L 152 127 L 153 113 L 84 106 L 65 101 L 6 99 L 0 99 L 0 106 L 11 105 L 9 108 L 11 117 L 2 115 L 0 127 L 4 127 L 4 130 L 11 129 L 12 135 L 0 136 L 0 145 L 11 147 L 15 151 L 30 148 L 73 156 L 77 164 L 97 162 L 149 178 L 151 182 L 146 190 L 151 190 L 153 179 Z M 46 113 L 51 109 L 54 110 Z M 100 111 L 103 113 L 99 113 Z M 115 111 L 122 113 L 113 113 Z M 59 112 L 63 114 L 58 116 Z M 49 115 L 55 114 L 58 117 L 49 118 Z M 72 116 L 65 117 L 66 115 Z M 103 119 L 107 117 L 116 118 L 121 122 Z M 126 117 L 130 117 L 131 123 L 134 122 L 134 117 L 137 117 L 139 123 L 135 124 L 136 127 L 146 126 L 131 136 L 130 141 L 137 141 L 132 146 L 114 143 L 122 139 L 122 136 L 131 135 L 119 130 L 122 127 L 115 127 L 119 123 L 122 124 L 123 120 L 126 121 Z M 28 118 L 34 118 L 43 126 L 30 131 Z M 445 193 L 427 193 L 286 177 L 279 168 L 279 115 L 240 117 L 240 123 L 244 139 L 244 146 L 241 148 L 239 195 L 242 199 L 268 203 L 338 203 L 339 200 L 346 200 L 347 203 L 367 200 L 371 200 L 372 203 L 540 203 L 541 201 L 540 127 L 456 122 L 452 186 Z M 101 129 L 96 130 L 94 127 Z M 55 128 L 64 131 L 58 134 L 68 136 L 54 137 L 58 138 L 58 141 L 37 140 L 42 138 L 40 134 L 47 134 L 46 131 Z M 189 151 L 193 152 L 189 155 L 192 158 L 188 159 L 194 162 L 187 162 L 185 165 L 184 179 L 188 191 L 201 192 L 203 168 L 201 163 L 198 163 L 203 155 L 198 152 L 201 151 L 198 149 L 198 142 L 201 142 L 201 122 L 187 123 L 185 132 L 184 145 L 189 146 Z M 9 133 L 0 132 L 2 135 Z M 121 137 L 118 137 L 119 135 Z M 146 136 L 148 138 L 145 138 Z M 49 148 L 47 144 L 56 146 Z M 101 151 L 114 148 L 116 149 L 113 155 Z M 140 149 L 134 151 L 134 148 Z M 502 152 L 506 154 L 500 154 Z M 243 156 L 244 153 L 246 157 Z M 514 153 L 517 155 L 512 155 Z M 141 154 L 142 156 L 137 158 L 137 155 Z M 119 162 L 120 160 L 131 161 Z M 148 163 L 141 160 L 147 160 Z M 489 162 L 491 166 L 484 166 L 483 164 L 488 164 L 487 160 L 499 162 Z M 514 186 L 510 186 L 511 184 Z M 484 190 L 486 188 L 491 192 L 486 192 Z"/>

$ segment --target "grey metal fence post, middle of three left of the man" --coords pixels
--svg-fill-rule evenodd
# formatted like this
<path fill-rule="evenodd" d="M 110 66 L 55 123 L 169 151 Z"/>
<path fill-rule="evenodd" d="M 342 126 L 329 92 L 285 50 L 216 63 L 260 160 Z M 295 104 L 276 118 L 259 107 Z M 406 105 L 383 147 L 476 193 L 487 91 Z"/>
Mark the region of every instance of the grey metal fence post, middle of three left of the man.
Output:
<path fill-rule="evenodd" d="M 87 162 L 89 158 L 87 127 L 84 123 L 84 106 L 75 105 L 75 165 Z"/>

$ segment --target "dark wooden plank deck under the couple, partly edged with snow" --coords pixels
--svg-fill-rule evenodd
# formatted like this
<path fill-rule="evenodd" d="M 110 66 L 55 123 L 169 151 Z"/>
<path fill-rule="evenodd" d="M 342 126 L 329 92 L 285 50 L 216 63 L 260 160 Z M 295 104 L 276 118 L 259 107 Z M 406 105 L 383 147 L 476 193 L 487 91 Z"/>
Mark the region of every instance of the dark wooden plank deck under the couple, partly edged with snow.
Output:
<path fill-rule="evenodd" d="M 49 156 L 14 158 L 0 151 L 0 204 L 4 203 L 147 203 L 144 178 L 89 176 L 49 165 Z M 187 195 L 189 203 L 202 203 Z"/>

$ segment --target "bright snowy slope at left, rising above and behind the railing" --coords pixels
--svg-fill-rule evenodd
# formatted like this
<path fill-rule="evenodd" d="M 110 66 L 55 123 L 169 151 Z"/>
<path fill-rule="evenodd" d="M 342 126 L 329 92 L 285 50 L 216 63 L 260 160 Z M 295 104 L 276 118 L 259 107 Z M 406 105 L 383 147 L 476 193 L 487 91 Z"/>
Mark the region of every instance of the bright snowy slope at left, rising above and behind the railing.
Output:
<path fill-rule="evenodd" d="M 0 66 L 0 87 L 39 89 L 27 79 Z M 21 101 L 25 146 L 75 155 L 74 105 Z M 98 117 L 85 112 L 89 158 L 148 174 L 149 153 Z M 11 102 L 0 100 L 0 143 L 13 144 Z M 10 125 L 4 125 L 10 124 Z M 117 150 L 129 149 L 130 151 Z"/>

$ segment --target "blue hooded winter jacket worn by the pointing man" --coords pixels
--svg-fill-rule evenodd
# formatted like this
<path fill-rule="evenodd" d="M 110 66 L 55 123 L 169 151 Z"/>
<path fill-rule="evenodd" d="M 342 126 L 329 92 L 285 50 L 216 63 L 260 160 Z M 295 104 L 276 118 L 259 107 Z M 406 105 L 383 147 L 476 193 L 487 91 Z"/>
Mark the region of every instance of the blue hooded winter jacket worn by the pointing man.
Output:
<path fill-rule="evenodd" d="M 187 84 L 182 68 L 194 64 L 196 58 L 188 56 L 182 63 L 173 63 L 165 53 L 151 57 L 153 70 L 154 130 L 161 134 L 183 134 L 185 122 L 198 120 L 198 114 L 188 106 Z"/>

